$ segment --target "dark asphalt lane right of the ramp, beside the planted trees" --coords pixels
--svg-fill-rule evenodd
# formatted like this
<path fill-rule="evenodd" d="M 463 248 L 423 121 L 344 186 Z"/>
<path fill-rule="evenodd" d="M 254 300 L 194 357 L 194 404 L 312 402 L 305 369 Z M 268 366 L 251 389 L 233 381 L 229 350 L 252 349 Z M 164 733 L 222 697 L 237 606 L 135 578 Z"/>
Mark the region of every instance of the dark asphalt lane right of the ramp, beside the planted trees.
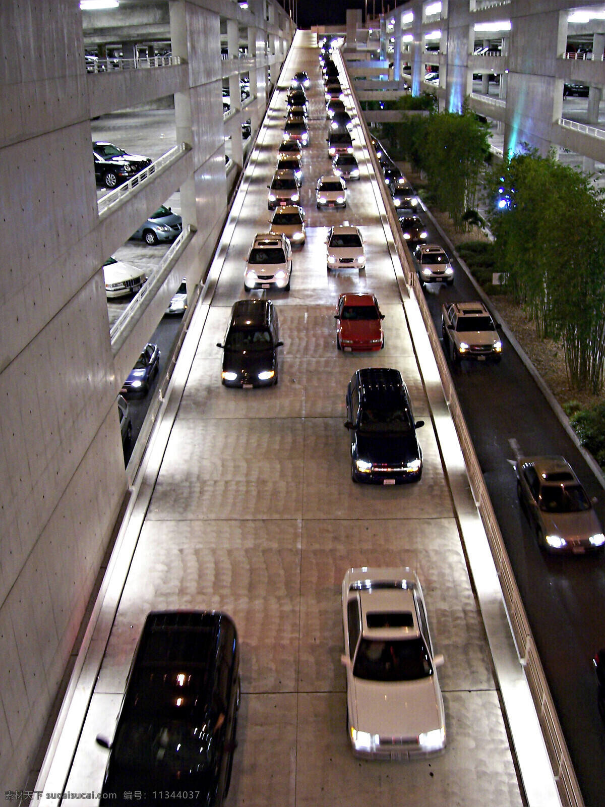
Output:
<path fill-rule="evenodd" d="M 453 287 L 430 284 L 425 290 L 439 333 L 442 303 L 477 299 L 455 259 L 453 265 Z M 601 521 L 605 495 L 523 362 L 501 336 L 503 357 L 498 365 L 450 362 L 450 371 L 582 793 L 586 804 L 603 804 L 605 746 L 590 660 L 605 642 L 605 556 L 543 554 L 517 499 L 515 449 L 526 456 L 563 454 L 590 497 L 597 497 Z M 593 742 L 587 743 L 587 738 Z"/>

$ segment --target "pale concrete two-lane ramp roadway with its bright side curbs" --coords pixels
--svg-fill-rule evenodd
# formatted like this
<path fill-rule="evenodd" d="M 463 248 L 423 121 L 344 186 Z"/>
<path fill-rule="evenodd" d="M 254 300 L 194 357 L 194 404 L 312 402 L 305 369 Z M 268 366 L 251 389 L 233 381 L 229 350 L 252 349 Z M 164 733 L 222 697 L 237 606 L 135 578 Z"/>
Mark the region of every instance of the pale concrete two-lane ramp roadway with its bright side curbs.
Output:
<path fill-rule="evenodd" d="M 283 92 L 269 106 L 190 322 L 70 708 L 52 739 L 44 792 L 100 789 L 106 751 L 94 737 L 113 731 L 145 614 L 222 608 L 235 618 L 242 645 L 239 746 L 227 803 L 348 804 L 355 792 L 385 804 L 556 804 L 460 446 L 361 125 L 354 136 L 362 175 L 349 182 L 348 207 L 315 207 L 315 179 L 330 163 L 314 42 L 299 33 L 282 73 L 287 86 L 295 70 L 307 69 L 313 86 L 303 156 L 307 243 L 294 254 L 290 291 L 270 293 L 285 342 L 279 384 L 223 387 L 215 343 L 243 294 L 252 238 L 267 228 Z M 328 274 L 325 236 L 344 220 L 365 236 L 366 269 Z M 366 289 L 386 315 L 385 348 L 371 357 L 338 353 L 338 294 Z M 419 483 L 351 482 L 344 391 L 357 366 L 402 371 L 415 414 L 426 422 Z M 440 757 L 385 764 L 351 755 L 340 580 L 348 567 L 369 564 L 411 565 L 424 584 L 434 640 L 447 659 L 440 679 L 449 742 Z"/>

